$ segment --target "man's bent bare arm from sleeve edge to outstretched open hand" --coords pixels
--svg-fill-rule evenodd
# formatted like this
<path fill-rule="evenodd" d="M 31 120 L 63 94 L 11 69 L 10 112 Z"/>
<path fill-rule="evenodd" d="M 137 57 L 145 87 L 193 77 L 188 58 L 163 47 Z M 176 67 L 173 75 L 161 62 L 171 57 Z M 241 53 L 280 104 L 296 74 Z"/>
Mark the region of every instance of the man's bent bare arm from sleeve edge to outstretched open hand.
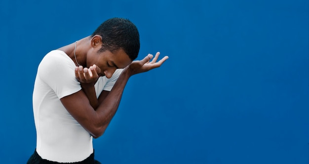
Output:
<path fill-rule="evenodd" d="M 113 89 L 98 105 L 96 110 L 90 105 L 89 100 L 83 91 L 78 91 L 77 93 L 61 98 L 60 100 L 77 122 L 83 126 L 84 129 L 89 131 L 93 137 L 97 138 L 104 133 L 114 117 L 129 77 L 159 67 L 168 59 L 168 57 L 164 57 L 156 62 L 156 55 L 154 60 L 149 62 L 151 58 L 152 55 L 148 55 L 143 60 L 134 61 L 129 66 L 125 67 Z"/>

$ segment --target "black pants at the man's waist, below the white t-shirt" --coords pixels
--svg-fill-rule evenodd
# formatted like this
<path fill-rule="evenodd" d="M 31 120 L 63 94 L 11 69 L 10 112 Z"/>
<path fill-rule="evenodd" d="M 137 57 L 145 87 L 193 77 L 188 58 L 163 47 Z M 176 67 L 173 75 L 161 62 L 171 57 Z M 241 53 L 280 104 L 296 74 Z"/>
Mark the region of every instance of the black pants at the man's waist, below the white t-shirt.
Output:
<path fill-rule="evenodd" d="M 33 155 L 29 158 L 27 164 L 101 164 L 99 161 L 94 159 L 94 151 L 93 153 L 86 158 L 85 160 L 81 162 L 76 162 L 76 163 L 57 163 L 57 162 L 52 162 L 48 160 L 42 159 L 39 154 L 37 153 L 37 150 L 33 153 Z"/>

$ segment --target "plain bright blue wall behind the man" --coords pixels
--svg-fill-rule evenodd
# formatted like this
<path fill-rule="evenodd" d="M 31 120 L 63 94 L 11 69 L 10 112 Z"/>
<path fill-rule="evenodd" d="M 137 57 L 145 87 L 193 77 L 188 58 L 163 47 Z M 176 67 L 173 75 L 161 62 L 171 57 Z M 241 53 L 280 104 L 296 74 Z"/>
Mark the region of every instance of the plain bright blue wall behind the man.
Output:
<path fill-rule="evenodd" d="M 308 0 L 1 0 L 0 158 L 36 146 L 43 56 L 112 17 L 139 29 L 138 59 L 96 159 L 106 164 L 308 164 Z"/>

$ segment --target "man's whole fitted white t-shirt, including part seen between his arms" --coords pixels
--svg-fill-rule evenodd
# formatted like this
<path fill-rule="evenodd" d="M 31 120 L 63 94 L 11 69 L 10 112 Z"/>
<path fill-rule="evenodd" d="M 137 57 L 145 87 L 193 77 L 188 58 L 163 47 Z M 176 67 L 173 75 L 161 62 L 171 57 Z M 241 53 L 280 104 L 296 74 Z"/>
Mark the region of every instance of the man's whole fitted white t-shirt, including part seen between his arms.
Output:
<path fill-rule="evenodd" d="M 122 69 L 112 78 L 100 77 L 97 97 L 111 91 Z M 38 67 L 33 92 L 33 112 L 37 130 L 37 152 L 42 159 L 59 163 L 83 161 L 93 153 L 92 136 L 66 110 L 60 98 L 81 90 L 75 78 L 75 64 L 63 51 L 46 54 Z"/>

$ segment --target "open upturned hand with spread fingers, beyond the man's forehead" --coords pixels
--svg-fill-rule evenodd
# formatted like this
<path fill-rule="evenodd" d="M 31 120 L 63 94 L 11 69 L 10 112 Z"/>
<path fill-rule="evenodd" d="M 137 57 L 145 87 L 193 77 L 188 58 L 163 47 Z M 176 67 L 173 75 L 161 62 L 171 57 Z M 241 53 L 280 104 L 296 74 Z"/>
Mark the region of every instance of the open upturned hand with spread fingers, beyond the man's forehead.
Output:
<path fill-rule="evenodd" d="M 127 66 L 125 69 L 128 71 L 130 75 L 134 75 L 137 73 L 147 72 L 151 69 L 154 69 L 156 67 L 161 66 L 167 59 L 168 56 L 165 56 L 158 62 L 157 59 L 159 57 L 160 53 L 157 52 L 155 56 L 152 54 L 148 54 L 143 60 L 141 61 L 133 61 L 129 66 Z M 151 59 L 154 57 L 154 59 L 151 61 Z"/>

